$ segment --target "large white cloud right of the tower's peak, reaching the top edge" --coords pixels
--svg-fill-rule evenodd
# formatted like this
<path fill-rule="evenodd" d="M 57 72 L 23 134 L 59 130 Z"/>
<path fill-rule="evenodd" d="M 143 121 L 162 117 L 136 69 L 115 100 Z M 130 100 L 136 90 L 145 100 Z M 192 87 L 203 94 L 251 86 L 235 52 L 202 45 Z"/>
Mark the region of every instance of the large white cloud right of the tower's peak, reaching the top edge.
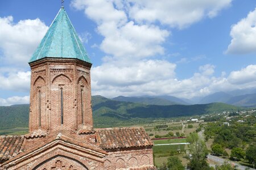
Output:
<path fill-rule="evenodd" d="M 216 16 L 232 0 L 73 0 L 71 6 L 84 10 L 104 36 L 100 48 L 114 57 L 151 57 L 164 54 L 162 46 L 170 31 L 156 25 L 186 27 L 205 16 Z M 145 22 L 143 22 L 145 21 Z"/>

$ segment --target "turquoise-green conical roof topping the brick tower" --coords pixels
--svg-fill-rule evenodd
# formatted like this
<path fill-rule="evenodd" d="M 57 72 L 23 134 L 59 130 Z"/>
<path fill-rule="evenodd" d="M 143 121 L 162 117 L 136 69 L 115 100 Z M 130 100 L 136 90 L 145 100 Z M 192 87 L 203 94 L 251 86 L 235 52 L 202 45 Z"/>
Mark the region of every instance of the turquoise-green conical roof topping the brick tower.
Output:
<path fill-rule="evenodd" d="M 92 63 L 63 7 L 29 62 L 42 58 L 77 58 Z"/>

